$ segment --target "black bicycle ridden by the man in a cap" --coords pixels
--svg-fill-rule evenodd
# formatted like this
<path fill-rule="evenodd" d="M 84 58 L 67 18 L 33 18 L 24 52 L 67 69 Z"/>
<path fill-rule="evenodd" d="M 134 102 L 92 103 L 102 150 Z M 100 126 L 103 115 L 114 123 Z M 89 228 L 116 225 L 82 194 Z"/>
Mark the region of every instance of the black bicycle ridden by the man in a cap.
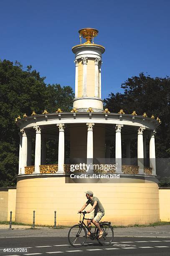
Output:
<path fill-rule="evenodd" d="M 99 222 L 101 230 L 103 231 L 103 236 L 99 239 L 98 228 L 95 227 L 94 233 L 91 233 L 91 230 L 89 230 L 89 228 L 84 223 L 84 220 L 89 220 L 89 219 L 85 218 L 85 214 L 87 212 L 84 211 L 84 212 L 80 212 L 80 213 L 81 213 L 81 215 L 80 215 L 79 224 L 72 226 L 68 233 L 68 240 L 69 240 L 69 243 L 71 244 L 71 246 L 80 247 L 85 243 L 86 238 L 87 238 L 86 229 L 90 232 L 89 238 L 91 240 L 96 239 L 101 246 L 108 246 L 109 244 L 112 243 L 113 238 L 114 238 L 114 232 L 113 232 L 112 226 L 110 225 L 111 222 L 107 222 L 107 221 Z M 82 214 L 83 214 L 83 218 L 81 220 Z"/>

